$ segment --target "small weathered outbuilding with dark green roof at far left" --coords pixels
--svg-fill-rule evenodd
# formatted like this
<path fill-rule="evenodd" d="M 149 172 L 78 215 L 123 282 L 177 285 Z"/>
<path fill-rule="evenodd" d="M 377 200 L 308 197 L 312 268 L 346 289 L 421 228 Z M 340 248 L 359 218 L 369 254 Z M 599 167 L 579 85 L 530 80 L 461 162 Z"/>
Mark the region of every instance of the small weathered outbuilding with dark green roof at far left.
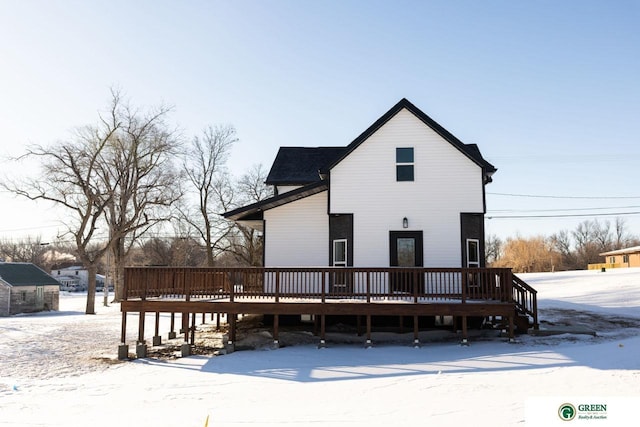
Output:
<path fill-rule="evenodd" d="M 31 263 L 0 262 L 0 316 L 58 310 L 60 283 Z"/>

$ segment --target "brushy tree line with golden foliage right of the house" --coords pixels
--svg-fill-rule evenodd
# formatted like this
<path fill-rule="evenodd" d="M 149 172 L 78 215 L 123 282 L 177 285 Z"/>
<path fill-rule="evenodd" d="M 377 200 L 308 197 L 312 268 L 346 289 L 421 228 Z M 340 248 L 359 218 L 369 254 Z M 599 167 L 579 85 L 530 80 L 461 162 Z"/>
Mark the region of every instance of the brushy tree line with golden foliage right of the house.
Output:
<path fill-rule="evenodd" d="M 611 221 L 585 220 L 572 230 L 551 236 L 488 236 L 485 242 L 487 264 L 511 267 L 514 272 L 582 270 L 603 262 L 603 252 L 640 245 L 640 238 L 627 231 L 623 218 Z"/>

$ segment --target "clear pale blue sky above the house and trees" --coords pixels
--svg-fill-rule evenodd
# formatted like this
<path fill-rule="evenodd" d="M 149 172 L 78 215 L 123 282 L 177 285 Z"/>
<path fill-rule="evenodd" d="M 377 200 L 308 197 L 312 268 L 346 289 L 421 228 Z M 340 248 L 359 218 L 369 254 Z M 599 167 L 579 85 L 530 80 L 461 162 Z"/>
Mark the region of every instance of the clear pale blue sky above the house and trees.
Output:
<path fill-rule="evenodd" d="M 0 0 L 0 156 L 95 123 L 117 87 L 174 106 L 185 138 L 234 125 L 241 174 L 347 145 L 406 97 L 498 168 L 488 234 L 611 214 L 640 234 L 639 28 L 633 0 Z M 49 206 L 0 207 L 0 238 L 60 229 Z"/>

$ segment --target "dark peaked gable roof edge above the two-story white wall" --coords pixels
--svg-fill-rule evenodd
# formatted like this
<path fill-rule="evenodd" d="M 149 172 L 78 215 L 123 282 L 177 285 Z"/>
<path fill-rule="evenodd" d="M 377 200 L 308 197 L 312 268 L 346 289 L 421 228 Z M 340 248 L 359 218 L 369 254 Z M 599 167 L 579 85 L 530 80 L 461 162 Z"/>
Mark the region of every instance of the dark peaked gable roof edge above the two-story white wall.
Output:
<path fill-rule="evenodd" d="M 431 117 L 427 116 L 423 113 L 418 107 L 409 102 L 406 98 L 402 98 L 396 105 L 391 107 L 389 111 L 387 111 L 382 117 L 375 121 L 367 130 L 362 132 L 360 136 L 354 139 L 342 152 L 339 156 L 337 156 L 331 163 L 327 164 L 323 169 L 322 173 L 327 173 L 334 166 L 340 163 L 345 157 L 347 157 L 353 150 L 358 148 L 360 144 L 366 141 L 371 135 L 373 135 L 378 129 L 380 129 L 385 123 L 391 120 L 396 114 L 398 114 L 402 109 L 406 108 L 410 113 L 420 119 L 425 125 L 429 126 L 433 129 L 438 135 L 440 135 L 445 141 L 449 142 L 455 148 L 457 148 L 462 154 L 467 156 L 473 162 L 475 162 L 478 166 L 482 168 L 485 176 L 489 180 L 491 175 L 497 170 L 491 163 L 487 162 L 482 155 L 480 154 L 480 150 L 478 146 L 475 144 L 464 144 L 458 138 L 453 136 L 448 130 L 440 126 L 433 120 Z"/>

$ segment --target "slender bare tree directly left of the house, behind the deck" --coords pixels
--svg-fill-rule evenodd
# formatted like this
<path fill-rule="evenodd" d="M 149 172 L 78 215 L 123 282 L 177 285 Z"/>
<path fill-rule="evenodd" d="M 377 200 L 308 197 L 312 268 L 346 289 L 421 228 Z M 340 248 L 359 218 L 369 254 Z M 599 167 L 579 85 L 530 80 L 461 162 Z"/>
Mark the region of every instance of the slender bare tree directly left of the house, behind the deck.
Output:
<path fill-rule="evenodd" d="M 183 169 L 197 197 L 196 212 L 183 207 L 180 217 L 202 240 L 207 265 L 213 266 L 215 255 L 226 249 L 225 239 L 232 224 L 217 214 L 228 210 L 234 200 L 233 186 L 225 168 L 233 144 L 238 141 L 233 126 L 215 126 L 193 138 L 184 156 Z"/>

